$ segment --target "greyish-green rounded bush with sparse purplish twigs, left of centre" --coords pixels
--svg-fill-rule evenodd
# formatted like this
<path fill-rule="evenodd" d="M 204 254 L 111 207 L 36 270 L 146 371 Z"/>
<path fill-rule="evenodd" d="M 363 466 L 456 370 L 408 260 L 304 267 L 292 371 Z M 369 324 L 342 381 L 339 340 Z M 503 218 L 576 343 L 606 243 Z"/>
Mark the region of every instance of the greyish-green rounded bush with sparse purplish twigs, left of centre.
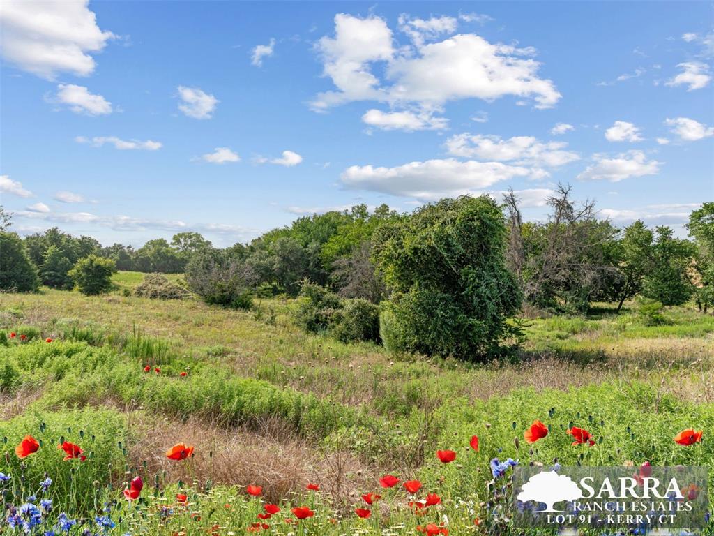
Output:
<path fill-rule="evenodd" d="M 186 267 L 186 283 L 191 291 L 207 304 L 233 309 L 251 308 L 254 279 L 245 262 L 221 249 L 196 254 Z"/>

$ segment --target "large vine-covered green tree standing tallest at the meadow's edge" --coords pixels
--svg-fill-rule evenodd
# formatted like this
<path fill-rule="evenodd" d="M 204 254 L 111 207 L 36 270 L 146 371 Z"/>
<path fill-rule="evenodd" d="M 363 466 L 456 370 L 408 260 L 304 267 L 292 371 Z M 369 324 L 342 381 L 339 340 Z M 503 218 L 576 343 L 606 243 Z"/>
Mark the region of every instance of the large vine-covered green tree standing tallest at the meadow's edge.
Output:
<path fill-rule="evenodd" d="M 521 305 L 505 239 L 501 209 L 486 196 L 443 199 L 381 227 L 375 248 L 392 289 L 391 341 L 461 359 L 498 354 Z"/>

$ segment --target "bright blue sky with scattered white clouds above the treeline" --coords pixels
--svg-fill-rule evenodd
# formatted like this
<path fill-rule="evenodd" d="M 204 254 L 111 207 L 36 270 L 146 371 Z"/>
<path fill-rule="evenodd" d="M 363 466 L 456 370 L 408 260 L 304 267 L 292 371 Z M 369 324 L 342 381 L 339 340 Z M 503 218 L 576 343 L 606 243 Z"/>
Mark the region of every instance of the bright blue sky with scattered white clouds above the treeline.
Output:
<path fill-rule="evenodd" d="M 509 187 L 539 219 L 558 182 L 685 234 L 714 199 L 706 2 L 11 0 L 0 21 L 21 234 L 226 246 Z"/>

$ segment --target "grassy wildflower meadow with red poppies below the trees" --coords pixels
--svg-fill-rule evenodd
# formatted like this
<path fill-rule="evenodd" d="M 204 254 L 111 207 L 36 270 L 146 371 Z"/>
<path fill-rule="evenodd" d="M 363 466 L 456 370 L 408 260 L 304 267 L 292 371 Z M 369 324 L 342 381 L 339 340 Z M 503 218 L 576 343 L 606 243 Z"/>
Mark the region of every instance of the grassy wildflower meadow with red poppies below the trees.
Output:
<path fill-rule="evenodd" d="M 692 304 L 655 326 L 627 305 L 531 314 L 517 356 L 471 364 L 308 334 L 287 297 L 135 297 L 143 277 L 0 294 L 0 490 L 6 509 L 51 500 L 3 534 L 520 534 L 494 458 L 714 467 L 714 317 Z M 703 439 L 673 441 L 689 428 Z M 26 435 L 39 448 L 19 458 Z M 169 459 L 179 444 L 193 455 Z"/>

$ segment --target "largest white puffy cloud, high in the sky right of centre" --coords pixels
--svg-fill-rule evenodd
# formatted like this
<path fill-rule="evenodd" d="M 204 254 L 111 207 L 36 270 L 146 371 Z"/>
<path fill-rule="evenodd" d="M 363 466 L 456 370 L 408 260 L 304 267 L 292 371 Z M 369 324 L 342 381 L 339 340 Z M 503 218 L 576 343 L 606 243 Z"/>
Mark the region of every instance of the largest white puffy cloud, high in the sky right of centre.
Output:
<path fill-rule="evenodd" d="M 376 100 L 434 110 L 447 101 L 493 101 L 506 95 L 531 98 L 536 108 L 548 108 L 560 99 L 553 82 L 538 77 L 540 64 L 530 57 L 533 49 L 491 44 L 476 34 L 398 48 L 393 41 L 391 29 L 377 16 L 336 15 L 335 36 L 323 36 L 316 46 L 336 90 L 318 94 L 313 109 Z M 383 79 L 372 71 L 378 62 L 386 64 Z"/>

